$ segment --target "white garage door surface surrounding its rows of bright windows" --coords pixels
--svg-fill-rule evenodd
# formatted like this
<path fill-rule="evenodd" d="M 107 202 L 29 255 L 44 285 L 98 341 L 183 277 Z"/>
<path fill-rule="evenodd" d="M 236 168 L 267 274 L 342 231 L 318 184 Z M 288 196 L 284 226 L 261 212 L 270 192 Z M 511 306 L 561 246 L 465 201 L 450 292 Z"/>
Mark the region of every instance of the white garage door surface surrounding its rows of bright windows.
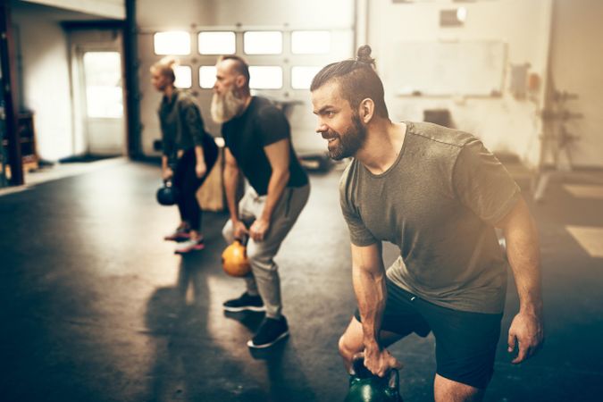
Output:
<path fill-rule="evenodd" d="M 193 66 L 193 89 L 201 105 L 201 113 L 206 128 L 219 135 L 219 126 L 211 121 L 209 105 L 211 89 L 198 88 L 197 67 L 214 65 L 215 56 L 197 54 L 197 33 L 206 29 L 231 29 L 242 32 L 246 29 L 280 29 L 285 31 L 283 46 L 285 54 L 278 56 L 246 56 L 249 63 L 284 63 L 291 65 L 299 62 L 316 62 L 316 58 L 294 56 L 287 53 L 290 29 L 332 29 L 335 51 L 320 58 L 323 65 L 332 61 L 351 57 L 353 54 L 354 0 L 181 0 L 178 7 L 163 0 L 139 0 L 137 4 L 138 56 L 140 59 L 141 121 L 143 124 L 142 142 L 146 155 L 156 155 L 153 151 L 154 139 L 161 138 L 156 109 L 161 96 L 150 85 L 149 67 L 159 60 L 153 52 L 153 34 L 157 30 L 187 30 L 193 38 L 193 54 L 180 57 L 181 64 Z M 169 16 L 167 18 L 166 16 Z M 238 52 L 242 53 L 241 40 L 238 38 Z M 287 61 L 285 62 L 285 59 Z M 293 106 L 289 114 L 293 143 L 300 153 L 324 151 L 324 143 L 314 133 L 315 118 L 312 113 L 310 94 L 306 90 L 287 88 L 289 71 L 284 75 L 284 87 L 259 93 L 281 99 L 300 101 Z"/>

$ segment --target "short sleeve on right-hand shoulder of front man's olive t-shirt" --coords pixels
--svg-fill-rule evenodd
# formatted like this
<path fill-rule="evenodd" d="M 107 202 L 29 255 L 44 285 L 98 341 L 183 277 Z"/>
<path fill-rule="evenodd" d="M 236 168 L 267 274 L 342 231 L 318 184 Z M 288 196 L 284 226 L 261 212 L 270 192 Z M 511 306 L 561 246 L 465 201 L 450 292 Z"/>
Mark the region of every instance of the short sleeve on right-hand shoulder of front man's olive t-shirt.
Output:
<path fill-rule="evenodd" d="M 491 225 L 502 220 L 521 197 L 507 169 L 477 139 L 461 149 L 452 181 L 461 203 Z"/>

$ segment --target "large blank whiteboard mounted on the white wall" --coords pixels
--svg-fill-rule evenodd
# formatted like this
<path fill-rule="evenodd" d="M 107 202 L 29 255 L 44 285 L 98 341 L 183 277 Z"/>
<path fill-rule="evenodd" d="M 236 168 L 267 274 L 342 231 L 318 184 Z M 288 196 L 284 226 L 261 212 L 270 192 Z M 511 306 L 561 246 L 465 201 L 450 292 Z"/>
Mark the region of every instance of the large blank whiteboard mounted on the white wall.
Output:
<path fill-rule="evenodd" d="M 498 96 L 503 42 L 398 42 L 390 77 L 397 95 Z"/>

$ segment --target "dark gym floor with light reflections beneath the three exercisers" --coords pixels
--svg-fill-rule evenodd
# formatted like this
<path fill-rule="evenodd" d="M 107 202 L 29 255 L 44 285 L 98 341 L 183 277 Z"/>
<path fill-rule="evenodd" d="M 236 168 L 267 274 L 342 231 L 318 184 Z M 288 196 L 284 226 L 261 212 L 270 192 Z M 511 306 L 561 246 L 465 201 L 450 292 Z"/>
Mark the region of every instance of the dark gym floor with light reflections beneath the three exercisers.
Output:
<path fill-rule="evenodd" d="M 204 214 L 206 248 L 173 254 L 176 208 L 155 203 L 159 171 L 110 163 L 0 197 L 0 400 L 339 401 L 339 335 L 355 308 L 339 172 L 313 175 L 306 210 L 281 247 L 291 335 L 246 342 L 262 314 L 224 314 L 244 290 L 220 255 L 227 214 Z M 507 309 L 488 401 L 601 400 L 603 172 L 551 180 L 533 205 L 540 227 L 547 340 L 510 364 Z M 396 255 L 385 247 L 386 263 Z M 433 338 L 390 348 L 406 401 L 432 400 Z"/>

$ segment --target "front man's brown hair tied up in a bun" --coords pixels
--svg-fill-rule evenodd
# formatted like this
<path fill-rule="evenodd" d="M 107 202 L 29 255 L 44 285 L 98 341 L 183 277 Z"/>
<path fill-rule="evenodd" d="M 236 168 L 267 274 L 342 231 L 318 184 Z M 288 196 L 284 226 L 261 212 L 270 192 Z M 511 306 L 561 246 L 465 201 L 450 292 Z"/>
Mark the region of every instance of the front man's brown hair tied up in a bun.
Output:
<path fill-rule="evenodd" d="M 355 60 L 343 60 L 331 63 L 322 68 L 314 76 L 310 91 L 321 88 L 327 82 L 339 83 L 341 96 L 346 99 L 355 111 L 367 97 L 373 99 L 375 113 L 388 119 L 388 108 L 385 105 L 383 83 L 375 69 L 375 59 L 371 57 L 371 46 L 358 47 Z"/>

